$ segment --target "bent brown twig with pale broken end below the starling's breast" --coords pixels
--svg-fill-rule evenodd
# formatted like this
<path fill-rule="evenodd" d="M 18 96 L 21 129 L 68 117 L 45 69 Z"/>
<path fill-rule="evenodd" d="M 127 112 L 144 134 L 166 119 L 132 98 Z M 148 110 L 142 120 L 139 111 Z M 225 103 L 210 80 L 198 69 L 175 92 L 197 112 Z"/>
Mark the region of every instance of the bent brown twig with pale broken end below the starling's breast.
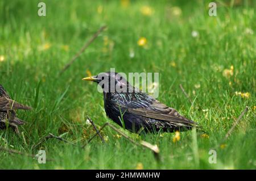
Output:
<path fill-rule="evenodd" d="M 89 140 L 88 142 L 82 146 L 82 148 L 84 148 L 87 144 L 89 144 L 90 141 L 93 140 L 94 137 L 97 136 L 97 134 L 102 130 L 104 129 L 106 126 L 109 126 L 110 128 L 112 128 L 115 132 L 118 132 L 119 134 L 121 134 L 123 137 L 126 138 L 126 140 L 129 140 L 130 142 L 132 142 L 134 145 L 137 145 L 137 146 L 143 146 L 143 148 L 147 148 L 147 149 L 150 149 L 151 151 L 153 151 L 154 155 L 156 156 L 157 159 L 159 159 L 159 148 L 157 145 L 152 145 L 150 144 L 149 142 L 146 142 L 146 141 L 141 141 L 141 142 L 136 142 L 134 141 L 133 139 L 131 139 L 129 136 L 127 136 L 125 133 L 119 131 L 117 128 L 115 128 L 112 124 L 109 124 L 109 123 L 105 123 L 98 131 L 96 134 L 94 134 Z"/>

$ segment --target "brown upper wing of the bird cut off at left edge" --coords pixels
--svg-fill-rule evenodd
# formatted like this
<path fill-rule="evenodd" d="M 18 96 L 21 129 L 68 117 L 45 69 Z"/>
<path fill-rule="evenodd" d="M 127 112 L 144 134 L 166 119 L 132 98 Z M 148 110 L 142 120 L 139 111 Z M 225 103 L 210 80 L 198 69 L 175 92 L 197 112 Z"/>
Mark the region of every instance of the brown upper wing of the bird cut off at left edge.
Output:
<path fill-rule="evenodd" d="M 10 111 L 10 110 L 30 110 L 31 107 L 24 106 L 15 100 L 6 98 L 5 96 L 0 97 L 0 111 Z"/>

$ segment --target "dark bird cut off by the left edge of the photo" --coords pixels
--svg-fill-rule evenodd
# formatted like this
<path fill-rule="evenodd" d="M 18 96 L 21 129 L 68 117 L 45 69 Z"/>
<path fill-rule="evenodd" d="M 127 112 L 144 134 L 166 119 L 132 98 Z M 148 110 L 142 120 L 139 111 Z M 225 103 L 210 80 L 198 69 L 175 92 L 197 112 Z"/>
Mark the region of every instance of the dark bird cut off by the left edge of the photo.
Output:
<path fill-rule="evenodd" d="M 24 121 L 16 117 L 15 110 L 30 109 L 30 107 L 12 100 L 5 89 L 3 89 L 3 86 L 0 85 L 0 129 L 5 129 L 6 125 L 9 125 L 16 132 L 19 132 L 18 125 L 24 124 Z"/>

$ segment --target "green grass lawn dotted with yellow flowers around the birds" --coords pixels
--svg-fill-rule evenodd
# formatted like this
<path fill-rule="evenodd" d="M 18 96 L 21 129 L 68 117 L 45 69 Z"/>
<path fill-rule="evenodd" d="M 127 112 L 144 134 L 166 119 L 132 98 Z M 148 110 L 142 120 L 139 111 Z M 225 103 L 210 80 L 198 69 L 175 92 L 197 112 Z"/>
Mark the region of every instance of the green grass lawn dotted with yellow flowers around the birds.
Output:
<path fill-rule="evenodd" d="M 0 56 L 5 59 L 0 61 L 0 84 L 13 99 L 33 107 L 18 111 L 27 121 L 19 128 L 24 137 L 11 129 L 0 131 L 0 146 L 30 154 L 41 148 L 55 161 L 38 164 L 36 159 L 0 151 L 0 169 L 135 169 L 140 162 L 144 169 L 256 169 L 254 1 L 231 1 L 233 6 L 217 1 L 216 17 L 208 15 L 210 1 L 130 1 L 122 7 L 119 1 L 47 0 L 46 17 L 37 15 L 38 2 L 0 1 Z M 145 5 L 154 9 L 152 15 L 141 13 Z M 179 7 L 181 14 L 173 15 L 172 7 Z M 108 30 L 58 77 L 102 25 Z M 199 36 L 192 37 L 192 31 Z M 146 37 L 146 48 L 138 46 L 140 37 Z M 232 65 L 233 75 L 227 78 L 223 71 Z M 97 86 L 81 81 L 86 70 L 97 74 L 110 68 L 159 72 L 158 100 L 197 121 L 209 138 L 182 132 L 174 143 L 174 133 L 137 136 L 118 127 L 106 117 Z M 250 97 L 242 98 L 236 91 L 249 92 Z M 217 146 L 217 164 L 210 164 L 209 150 L 222 142 L 245 106 L 249 111 L 225 148 Z M 157 162 L 151 151 L 117 138 L 110 128 L 102 132 L 108 138 L 105 144 L 97 137 L 81 149 L 51 139 L 32 150 L 48 133 L 67 132 L 63 138 L 85 144 L 94 133 L 85 124 L 87 115 L 98 126 L 113 123 L 134 140 L 158 145 L 162 161 Z"/>

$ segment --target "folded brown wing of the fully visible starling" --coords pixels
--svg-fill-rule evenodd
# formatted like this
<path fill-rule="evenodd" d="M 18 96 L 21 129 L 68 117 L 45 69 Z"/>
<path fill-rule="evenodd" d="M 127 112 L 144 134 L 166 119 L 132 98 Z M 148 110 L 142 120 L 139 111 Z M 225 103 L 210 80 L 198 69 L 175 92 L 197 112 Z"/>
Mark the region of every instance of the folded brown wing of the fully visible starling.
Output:
<path fill-rule="evenodd" d="M 155 99 L 152 100 L 152 103 L 148 107 L 134 108 L 126 104 L 126 110 L 136 115 L 167 121 L 169 123 L 180 123 L 180 125 L 191 127 L 196 124 L 194 121 L 181 116 L 174 108 L 168 107 Z"/>

